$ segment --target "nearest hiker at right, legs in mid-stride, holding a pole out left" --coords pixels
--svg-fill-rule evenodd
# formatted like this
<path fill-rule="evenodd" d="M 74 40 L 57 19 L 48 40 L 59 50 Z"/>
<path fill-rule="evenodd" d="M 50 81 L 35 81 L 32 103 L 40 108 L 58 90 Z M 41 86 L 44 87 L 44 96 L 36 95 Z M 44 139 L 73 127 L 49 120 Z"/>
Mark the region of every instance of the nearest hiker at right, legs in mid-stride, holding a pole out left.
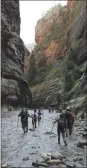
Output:
<path fill-rule="evenodd" d="M 67 142 L 65 140 L 65 128 L 64 128 L 64 116 L 63 114 L 60 114 L 60 118 L 54 121 L 54 124 L 58 122 L 57 125 L 57 133 L 58 133 L 58 144 L 60 144 L 60 134 L 62 134 L 63 141 L 65 146 L 67 146 Z"/>

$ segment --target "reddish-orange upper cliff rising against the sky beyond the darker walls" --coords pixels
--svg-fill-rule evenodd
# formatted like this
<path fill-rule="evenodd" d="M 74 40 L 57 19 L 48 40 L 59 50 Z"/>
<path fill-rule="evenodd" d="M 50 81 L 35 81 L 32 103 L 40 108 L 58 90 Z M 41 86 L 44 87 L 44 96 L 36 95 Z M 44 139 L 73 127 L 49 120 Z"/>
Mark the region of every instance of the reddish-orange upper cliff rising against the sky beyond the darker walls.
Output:
<path fill-rule="evenodd" d="M 35 41 L 38 46 L 41 46 L 39 50 L 43 50 L 47 58 L 54 59 L 56 56 L 63 56 L 67 52 L 68 33 L 65 35 L 61 32 L 66 29 L 66 22 L 69 20 L 68 11 L 75 6 L 75 3 L 75 0 L 68 0 L 67 6 L 56 6 L 37 22 Z M 64 22 L 65 25 L 63 25 Z"/>

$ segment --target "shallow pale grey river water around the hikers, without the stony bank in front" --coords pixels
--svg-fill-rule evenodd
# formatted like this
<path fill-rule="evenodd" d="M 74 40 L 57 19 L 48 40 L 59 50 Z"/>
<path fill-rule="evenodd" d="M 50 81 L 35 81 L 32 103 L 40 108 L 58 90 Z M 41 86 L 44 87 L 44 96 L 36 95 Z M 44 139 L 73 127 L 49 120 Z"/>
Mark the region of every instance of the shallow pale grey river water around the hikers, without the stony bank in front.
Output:
<path fill-rule="evenodd" d="M 41 153 L 56 151 L 71 159 L 73 156 L 78 156 L 78 153 L 85 156 L 84 149 L 76 147 L 79 138 L 77 127 L 74 128 L 72 137 L 67 139 L 68 147 L 64 146 L 62 138 L 61 145 L 58 145 L 56 124 L 52 131 L 54 134 L 46 134 L 51 131 L 52 123 L 58 116 L 56 112 L 50 114 L 48 110 L 43 110 L 42 120 L 39 125 L 37 124 L 36 130 L 29 130 L 26 134 L 23 133 L 20 121 L 17 127 L 19 112 L 18 110 L 2 113 L 2 165 L 31 168 L 32 162 L 36 161 Z M 33 111 L 29 110 L 29 113 L 32 114 Z M 29 118 L 29 128 L 32 128 L 31 118 Z"/>

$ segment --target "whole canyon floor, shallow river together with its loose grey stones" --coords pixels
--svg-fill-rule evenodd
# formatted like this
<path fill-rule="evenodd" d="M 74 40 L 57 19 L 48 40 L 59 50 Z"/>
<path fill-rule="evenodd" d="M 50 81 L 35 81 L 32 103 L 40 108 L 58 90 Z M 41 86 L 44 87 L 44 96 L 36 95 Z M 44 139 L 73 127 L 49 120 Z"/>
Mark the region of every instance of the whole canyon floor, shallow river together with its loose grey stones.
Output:
<path fill-rule="evenodd" d="M 57 114 L 43 110 L 42 120 L 32 131 L 29 118 L 29 131 L 24 134 L 21 122 L 18 122 L 20 110 L 6 112 L 2 110 L 2 167 L 33 168 L 86 168 L 86 121 L 75 121 L 71 137 L 67 138 L 65 147 L 62 137 L 57 143 L 56 124 L 50 134 L 52 123 Z M 29 110 L 32 114 L 33 111 Z"/>

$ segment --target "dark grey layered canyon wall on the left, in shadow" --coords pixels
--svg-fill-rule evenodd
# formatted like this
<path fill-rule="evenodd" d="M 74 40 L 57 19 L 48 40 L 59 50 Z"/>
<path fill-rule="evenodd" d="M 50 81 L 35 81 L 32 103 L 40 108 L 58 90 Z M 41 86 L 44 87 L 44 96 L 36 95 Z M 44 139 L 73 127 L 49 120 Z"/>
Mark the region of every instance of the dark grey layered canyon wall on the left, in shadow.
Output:
<path fill-rule="evenodd" d="M 29 55 L 20 38 L 19 0 L 1 2 L 1 97 L 2 104 L 29 103 L 30 90 L 24 76 L 24 56 Z"/>

